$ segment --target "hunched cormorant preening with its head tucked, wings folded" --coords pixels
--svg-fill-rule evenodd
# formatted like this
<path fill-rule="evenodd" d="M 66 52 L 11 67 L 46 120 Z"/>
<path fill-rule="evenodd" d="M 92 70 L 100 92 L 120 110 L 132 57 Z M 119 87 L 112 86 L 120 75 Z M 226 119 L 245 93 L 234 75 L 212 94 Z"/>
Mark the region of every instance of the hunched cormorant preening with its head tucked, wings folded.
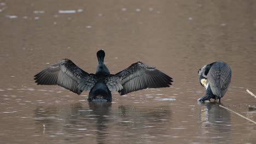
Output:
<path fill-rule="evenodd" d="M 231 69 L 224 62 L 214 62 L 203 66 L 199 71 L 199 81 L 206 88 L 205 97 L 200 100 L 220 99 L 228 90 L 231 81 Z"/>

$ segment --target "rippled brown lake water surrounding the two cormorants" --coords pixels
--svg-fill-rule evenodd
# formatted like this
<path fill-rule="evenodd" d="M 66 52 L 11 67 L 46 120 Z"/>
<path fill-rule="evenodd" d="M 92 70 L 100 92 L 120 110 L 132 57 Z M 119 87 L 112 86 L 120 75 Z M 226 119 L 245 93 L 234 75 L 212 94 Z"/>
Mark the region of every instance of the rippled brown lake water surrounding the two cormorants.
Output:
<path fill-rule="evenodd" d="M 255 143 L 256 125 L 205 94 L 197 70 L 224 61 L 232 79 L 222 105 L 256 121 L 253 1 L 0 0 L 0 143 Z M 96 52 L 115 74 L 142 61 L 170 88 L 89 103 L 33 76 L 71 59 L 95 73 Z"/>

